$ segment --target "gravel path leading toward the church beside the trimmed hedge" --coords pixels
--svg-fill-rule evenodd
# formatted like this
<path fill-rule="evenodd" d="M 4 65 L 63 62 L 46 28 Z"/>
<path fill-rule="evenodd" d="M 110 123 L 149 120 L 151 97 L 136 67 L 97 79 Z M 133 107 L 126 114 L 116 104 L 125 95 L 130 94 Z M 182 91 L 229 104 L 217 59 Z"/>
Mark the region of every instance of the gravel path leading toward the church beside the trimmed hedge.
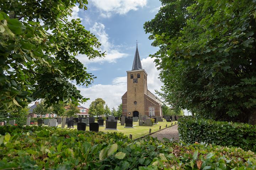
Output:
<path fill-rule="evenodd" d="M 166 137 L 168 139 L 173 138 L 174 141 L 178 141 L 178 125 L 171 126 L 170 128 L 166 128 L 164 130 L 161 130 L 159 132 L 156 132 L 152 134 L 151 136 L 157 137 L 159 140 L 162 140 L 162 138 Z"/>

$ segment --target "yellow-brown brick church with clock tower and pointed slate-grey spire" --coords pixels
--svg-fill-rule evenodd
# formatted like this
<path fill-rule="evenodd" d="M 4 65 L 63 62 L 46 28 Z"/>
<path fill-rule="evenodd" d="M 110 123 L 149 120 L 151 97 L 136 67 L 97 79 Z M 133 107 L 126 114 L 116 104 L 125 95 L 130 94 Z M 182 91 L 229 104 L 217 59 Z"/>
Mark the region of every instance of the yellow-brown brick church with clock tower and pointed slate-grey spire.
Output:
<path fill-rule="evenodd" d="M 127 92 L 122 96 L 123 116 L 138 117 L 141 114 L 162 117 L 162 102 L 148 90 L 147 76 L 137 45 L 132 70 L 127 71 Z"/>

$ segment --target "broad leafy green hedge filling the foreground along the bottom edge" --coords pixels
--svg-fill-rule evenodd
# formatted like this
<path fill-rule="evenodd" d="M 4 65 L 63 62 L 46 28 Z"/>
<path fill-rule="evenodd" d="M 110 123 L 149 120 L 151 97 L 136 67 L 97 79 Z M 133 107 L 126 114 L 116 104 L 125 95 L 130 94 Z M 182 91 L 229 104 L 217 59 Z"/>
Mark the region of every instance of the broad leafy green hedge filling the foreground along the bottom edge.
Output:
<path fill-rule="evenodd" d="M 255 169 L 238 148 L 38 126 L 0 127 L 0 169 Z M 240 168 L 239 168 L 240 167 Z"/>

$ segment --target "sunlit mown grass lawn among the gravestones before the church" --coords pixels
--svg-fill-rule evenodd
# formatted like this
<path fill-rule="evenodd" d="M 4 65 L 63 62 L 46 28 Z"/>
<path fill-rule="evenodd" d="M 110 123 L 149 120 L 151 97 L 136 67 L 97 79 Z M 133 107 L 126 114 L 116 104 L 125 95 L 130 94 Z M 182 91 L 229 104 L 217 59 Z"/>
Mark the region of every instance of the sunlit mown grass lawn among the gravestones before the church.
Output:
<path fill-rule="evenodd" d="M 95 121 L 97 122 L 97 121 Z M 158 131 L 159 130 L 159 126 L 161 126 L 161 129 L 165 128 L 166 124 L 167 127 L 171 126 L 171 123 L 175 124 L 175 122 L 166 122 L 165 120 L 163 122 L 159 122 L 156 125 L 153 126 L 139 126 L 139 122 L 133 122 L 133 127 L 134 128 L 124 128 L 124 126 L 121 126 L 121 123 L 117 123 L 117 130 L 105 130 L 106 127 L 100 127 L 99 131 L 103 131 L 103 132 L 122 132 L 123 134 L 127 135 L 128 137 L 130 136 L 130 134 L 132 134 L 132 138 L 138 138 L 138 137 L 142 137 L 144 135 L 147 135 L 149 133 L 149 129 L 151 129 L 151 133 Z M 176 121 L 177 123 L 177 121 Z M 104 125 L 105 125 L 105 121 L 104 121 Z M 58 127 L 61 127 L 61 124 L 58 125 Z M 66 125 L 67 127 L 67 125 Z M 74 125 L 74 129 L 76 129 L 77 126 Z M 89 131 L 89 126 L 86 127 L 86 131 Z"/>

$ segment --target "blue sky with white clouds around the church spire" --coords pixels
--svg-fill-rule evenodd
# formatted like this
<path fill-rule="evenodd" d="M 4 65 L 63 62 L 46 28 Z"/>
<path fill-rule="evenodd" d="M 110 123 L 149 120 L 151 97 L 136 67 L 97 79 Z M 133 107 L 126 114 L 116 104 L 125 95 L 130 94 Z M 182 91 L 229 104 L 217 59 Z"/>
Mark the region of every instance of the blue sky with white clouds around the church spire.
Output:
<path fill-rule="evenodd" d="M 155 93 L 161 89 L 159 70 L 149 57 L 158 48 L 151 46 L 152 40 L 143 29 L 143 24 L 154 18 L 160 6 L 158 0 L 90 0 L 88 10 L 73 8 L 69 19 L 80 18 L 85 29 L 101 42 L 101 51 L 106 51 L 105 58 L 91 61 L 86 56 L 77 56 L 87 71 L 97 77 L 88 87 L 77 86 L 82 96 L 90 98 L 82 106 L 89 108 L 98 97 L 110 108 L 117 108 L 122 102 L 121 97 L 127 91 L 126 71 L 132 69 L 136 40 L 142 67 L 148 73 L 148 90 Z"/>

